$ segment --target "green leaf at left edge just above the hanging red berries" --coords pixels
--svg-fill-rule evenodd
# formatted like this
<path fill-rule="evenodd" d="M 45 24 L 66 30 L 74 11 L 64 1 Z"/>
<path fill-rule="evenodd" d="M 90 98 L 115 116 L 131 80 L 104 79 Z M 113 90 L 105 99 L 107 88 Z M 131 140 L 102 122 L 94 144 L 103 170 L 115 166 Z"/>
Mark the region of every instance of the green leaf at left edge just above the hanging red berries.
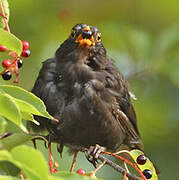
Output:
<path fill-rule="evenodd" d="M 18 56 L 21 55 L 21 40 L 3 29 L 0 29 L 0 44 L 7 47 L 9 50 L 16 52 Z"/>

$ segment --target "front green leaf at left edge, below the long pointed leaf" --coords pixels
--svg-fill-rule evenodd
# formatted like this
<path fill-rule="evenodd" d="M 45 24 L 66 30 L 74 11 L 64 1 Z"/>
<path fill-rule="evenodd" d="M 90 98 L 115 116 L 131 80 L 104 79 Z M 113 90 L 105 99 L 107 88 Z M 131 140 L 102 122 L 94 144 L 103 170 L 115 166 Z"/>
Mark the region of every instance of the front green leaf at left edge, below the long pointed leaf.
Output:
<path fill-rule="evenodd" d="M 0 115 L 21 127 L 21 113 L 15 101 L 8 94 L 0 93 Z"/>

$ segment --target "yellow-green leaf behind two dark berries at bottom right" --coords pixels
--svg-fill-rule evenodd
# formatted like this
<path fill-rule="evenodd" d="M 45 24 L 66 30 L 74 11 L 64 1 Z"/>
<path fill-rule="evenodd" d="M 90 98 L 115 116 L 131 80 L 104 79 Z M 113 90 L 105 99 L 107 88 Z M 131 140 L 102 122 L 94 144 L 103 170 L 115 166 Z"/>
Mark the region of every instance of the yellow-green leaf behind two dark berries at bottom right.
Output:
<path fill-rule="evenodd" d="M 134 149 L 128 152 L 130 156 L 133 158 L 133 160 L 137 163 L 137 157 L 140 155 L 144 155 L 144 153 L 140 150 Z M 158 176 L 156 174 L 155 168 L 152 164 L 152 162 L 147 158 L 147 161 L 144 165 L 137 164 L 141 171 L 144 171 L 145 169 L 149 169 L 152 172 L 152 178 L 150 180 L 158 180 Z"/>

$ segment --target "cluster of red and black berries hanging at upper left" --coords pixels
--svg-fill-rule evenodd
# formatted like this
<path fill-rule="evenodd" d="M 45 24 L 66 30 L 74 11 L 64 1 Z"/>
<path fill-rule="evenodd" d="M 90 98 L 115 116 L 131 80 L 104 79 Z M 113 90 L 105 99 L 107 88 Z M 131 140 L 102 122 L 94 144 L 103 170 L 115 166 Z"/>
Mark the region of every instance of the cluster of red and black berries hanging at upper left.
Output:
<path fill-rule="evenodd" d="M 30 56 L 29 43 L 27 41 L 22 41 L 22 46 L 23 46 L 23 50 L 22 50 L 21 56 L 25 58 L 29 57 Z M 0 45 L 1 52 L 5 52 L 7 50 L 8 49 L 5 46 Z M 18 69 L 22 67 L 23 61 L 13 51 L 9 51 L 9 55 L 12 57 L 12 60 L 5 59 L 2 62 L 2 66 L 5 68 L 5 70 L 2 73 L 0 73 L 0 75 L 2 75 L 2 78 L 4 80 L 10 80 L 12 77 L 12 74 L 15 73 L 16 79 L 14 82 L 17 83 L 18 82 Z"/>

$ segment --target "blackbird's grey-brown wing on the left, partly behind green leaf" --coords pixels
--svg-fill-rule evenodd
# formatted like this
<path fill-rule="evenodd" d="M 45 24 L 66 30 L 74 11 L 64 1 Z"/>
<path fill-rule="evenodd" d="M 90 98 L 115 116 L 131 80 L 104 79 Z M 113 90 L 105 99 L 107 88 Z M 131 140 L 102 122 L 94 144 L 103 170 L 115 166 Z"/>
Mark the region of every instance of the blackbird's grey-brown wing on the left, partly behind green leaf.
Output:
<path fill-rule="evenodd" d="M 42 99 L 45 103 L 47 111 L 57 119 L 59 119 L 60 116 L 59 108 L 62 107 L 62 103 L 64 102 L 61 98 L 59 98 L 59 93 L 61 93 L 58 90 L 59 78 L 60 77 L 56 72 L 56 59 L 47 59 L 43 62 L 38 78 L 32 89 L 32 93 Z M 35 119 L 40 122 L 40 126 L 38 126 L 37 129 L 34 128 L 35 125 L 33 125 L 34 130 L 47 129 L 50 120 L 39 116 L 35 116 Z"/>

